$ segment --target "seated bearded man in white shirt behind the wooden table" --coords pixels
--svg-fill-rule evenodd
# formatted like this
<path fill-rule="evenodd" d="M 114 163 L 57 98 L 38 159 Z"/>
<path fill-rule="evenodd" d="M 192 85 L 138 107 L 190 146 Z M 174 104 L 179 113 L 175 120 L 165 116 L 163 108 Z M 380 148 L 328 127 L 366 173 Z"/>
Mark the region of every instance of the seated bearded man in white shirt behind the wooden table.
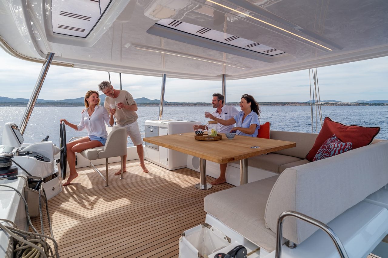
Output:
<path fill-rule="evenodd" d="M 211 114 L 220 119 L 228 120 L 234 117 L 238 113 L 238 110 L 236 107 L 223 105 L 223 99 L 224 98 L 222 94 L 220 93 L 213 94 L 213 100 L 211 101 L 211 104 L 213 104 L 213 108 L 217 108 L 217 109 Z M 230 132 L 230 130 L 233 127 L 234 127 L 234 124 L 230 126 L 224 126 L 218 123 L 217 132 L 222 132 L 222 133 Z M 205 126 L 199 126 L 199 128 L 202 130 L 206 130 Z M 216 180 L 210 182 L 210 184 L 215 185 L 215 184 L 223 184 L 226 182 L 225 174 L 226 174 L 227 165 L 228 163 L 220 164 L 220 176 Z"/>

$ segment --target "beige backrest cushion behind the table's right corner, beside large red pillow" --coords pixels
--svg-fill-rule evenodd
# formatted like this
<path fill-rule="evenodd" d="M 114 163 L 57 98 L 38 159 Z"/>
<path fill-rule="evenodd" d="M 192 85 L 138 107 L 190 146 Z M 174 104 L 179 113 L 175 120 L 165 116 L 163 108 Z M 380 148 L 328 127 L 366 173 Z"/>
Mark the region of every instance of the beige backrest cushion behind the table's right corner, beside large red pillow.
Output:
<path fill-rule="evenodd" d="M 318 134 L 309 132 L 286 132 L 286 131 L 272 131 L 271 139 L 282 141 L 293 141 L 296 147 L 286 150 L 275 151 L 274 153 L 289 155 L 305 159 L 307 153 L 311 150 L 315 143 Z M 284 163 L 283 163 L 284 164 Z"/>

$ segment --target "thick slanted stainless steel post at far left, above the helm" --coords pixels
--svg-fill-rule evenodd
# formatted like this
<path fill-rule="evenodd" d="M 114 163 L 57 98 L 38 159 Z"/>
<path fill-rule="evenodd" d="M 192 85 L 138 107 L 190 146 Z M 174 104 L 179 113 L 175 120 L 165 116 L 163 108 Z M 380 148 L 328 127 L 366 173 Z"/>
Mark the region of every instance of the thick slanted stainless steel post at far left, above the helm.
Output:
<path fill-rule="evenodd" d="M 38 80 L 35 83 L 35 88 L 31 93 L 31 98 L 29 98 L 26 111 L 24 111 L 24 115 L 20 121 L 19 131 L 22 135 L 24 134 L 24 131 L 26 131 L 28 120 L 31 117 L 32 111 L 35 107 L 36 100 L 38 99 L 38 96 L 40 93 L 40 89 L 42 89 L 43 82 L 45 81 L 47 72 L 49 71 L 50 64 L 53 58 L 54 58 L 54 53 L 48 53 L 46 56 L 46 60 L 43 63 L 42 69 L 40 70 Z"/>

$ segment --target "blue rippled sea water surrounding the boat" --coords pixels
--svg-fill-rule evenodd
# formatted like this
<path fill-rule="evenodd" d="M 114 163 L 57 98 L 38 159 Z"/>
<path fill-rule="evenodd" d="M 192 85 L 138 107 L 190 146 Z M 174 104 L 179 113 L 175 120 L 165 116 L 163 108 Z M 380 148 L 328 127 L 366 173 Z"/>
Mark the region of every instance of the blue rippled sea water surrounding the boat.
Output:
<path fill-rule="evenodd" d="M 240 107 L 236 107 L 240 110 Z M 84 107 L 35 107 L 31 114 L 27 129 L 24 133 L 25 143 L 41 141 L 46 136 L 49 140 L 59 145 L 59 120 L 66 119 L 73 124 L 79 124 L 81 112 Z M 379 126 L 381 131 L 376 138 L 388 139 L 388 107 L 322 107 L 322 121 L 325 117 L 346 125 L 356 124 L 359 126 Z M 3 127 L 6 122 L 20 124 L 25 107 L 0 107 L 0 143 Z M 163 120 L 201 121 L 206 124 L 209 119 L 204 117 L 205 111 L 213 111 L 210 107 L 164 107 Z M 272 130 L 319 132 L 320 118 L 315 119 L 316 112 L 313 110 L 311 119 L 310 107 L 262 107 L 260 122 L 271 122 Z M 145 120 L 158 120 L 159 107 L 138 107 L 138 123 L 142 137 L 144 137 Z M 75 131 L 66 126 L 66 138 L 87 136 L 87 131 Z M 128 138 L 127 146 L 133 146 Z"/>

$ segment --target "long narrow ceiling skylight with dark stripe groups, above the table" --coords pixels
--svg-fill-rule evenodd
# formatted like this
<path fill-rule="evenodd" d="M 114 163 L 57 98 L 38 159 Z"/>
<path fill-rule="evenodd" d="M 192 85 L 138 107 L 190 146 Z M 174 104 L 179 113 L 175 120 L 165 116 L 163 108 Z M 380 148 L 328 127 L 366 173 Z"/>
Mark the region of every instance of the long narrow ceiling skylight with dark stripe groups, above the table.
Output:
<path fill-rule="evenodd" d="M 227 33 L 223 33 L 221 31 L 216 31 L 214 29 L 206 28 L 203 26 L 198 26 L 194 24 L 190 24 L 187 22 L 182 22 L 173 19 L 162 19 L 156 24 L 161 26 L 165 26 L 170 29 L 175 29 L 177 31 L 181 31 L 184 33 L 189 33 L 192 35 L 196 35 L 198 37 L 206 38 L 209 40 L 214 40 L 220 43 L 224 43 L 231 46 L 236 46 L 239 48 L 244 48 L 246 50 L 254 51 L 256 53 L 261 53 L 264 55 L 274 56 L 280 55 L 285 52 L 278 50 L 276 48 L 263 45 L 261 43 L 251 41 L 245 38 L 241 38 L 236 35 L 231 35 Z M 179 25 L 179 26 L 178 26 Z"/>

